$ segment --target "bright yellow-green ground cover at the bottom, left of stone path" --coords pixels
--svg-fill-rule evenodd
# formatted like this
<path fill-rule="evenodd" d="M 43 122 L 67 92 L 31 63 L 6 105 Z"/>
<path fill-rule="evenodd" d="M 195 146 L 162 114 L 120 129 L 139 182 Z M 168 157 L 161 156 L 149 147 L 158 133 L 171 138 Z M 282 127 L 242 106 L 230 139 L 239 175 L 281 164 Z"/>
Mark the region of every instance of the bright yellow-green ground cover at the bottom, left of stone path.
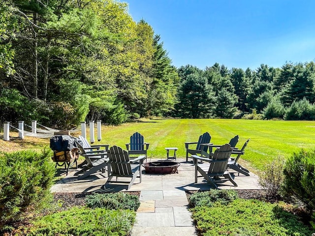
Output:
<path fill-rule="evenodd" d="M 23 229 L 29 236 L 126 236 L 135 221 L 135 212 L 104 208 L 72 207 L 69 210 L 37 217 L 31 228 Z"/>

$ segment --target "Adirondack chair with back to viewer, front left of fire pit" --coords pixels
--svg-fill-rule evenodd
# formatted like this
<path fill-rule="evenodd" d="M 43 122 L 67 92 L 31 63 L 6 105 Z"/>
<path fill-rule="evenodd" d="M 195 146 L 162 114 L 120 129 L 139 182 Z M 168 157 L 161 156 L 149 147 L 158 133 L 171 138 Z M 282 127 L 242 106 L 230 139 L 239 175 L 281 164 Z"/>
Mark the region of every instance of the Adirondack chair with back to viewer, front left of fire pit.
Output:
<path fill-rule="evenodd" d="M 107 183 L 128 183 L 127 190 L 131 187 L 132 183 L 139 175 L 140 183 L 142 181 L 141 166 L 145 155 L 141 155 L 136 159 L 129 160 L 129 155 L 126 150 L 123 150 L 120 147 L 113 146 L 109 148 L 107 156 L 109 158 L 108 163 L 110 164 L 110 174 L 108 180 L 103 185 L 103 188 L 106 188 Z M 136 164 L 133 164 L 136 163 Z M 112 178 L 116 177 L 116 181 L 113 181 Z M 130 181 L 118 181 L 118 177 L 129 177 Z"/>

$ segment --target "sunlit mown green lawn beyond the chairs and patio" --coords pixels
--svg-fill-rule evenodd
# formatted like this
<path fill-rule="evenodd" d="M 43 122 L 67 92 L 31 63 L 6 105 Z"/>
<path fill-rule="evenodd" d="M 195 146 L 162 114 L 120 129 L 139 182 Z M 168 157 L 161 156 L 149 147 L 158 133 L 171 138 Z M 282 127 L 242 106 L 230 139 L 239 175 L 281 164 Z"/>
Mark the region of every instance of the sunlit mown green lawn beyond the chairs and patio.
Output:
<path fill-rule="evenodd" d="M 239 135 L 238 148 L 251 138 L 242 158 L 245 164 L 258 169 L 277 155 L 287 157 L 298 148 L 315 148 L 315 121 L 245 119 L 143 119 L 120 126 L 102 126 L 102 140 L 95 144 L 126 148 L 134 132 L 140 132 L 145 142 L 150 143 L 149 158 L 165 158 L 165 147 L 177 147 L 177 156 L 185 157 L 184 142 L 196 142 L 204 132 L 210 133 L 214 144 L 228 143 Z"/>

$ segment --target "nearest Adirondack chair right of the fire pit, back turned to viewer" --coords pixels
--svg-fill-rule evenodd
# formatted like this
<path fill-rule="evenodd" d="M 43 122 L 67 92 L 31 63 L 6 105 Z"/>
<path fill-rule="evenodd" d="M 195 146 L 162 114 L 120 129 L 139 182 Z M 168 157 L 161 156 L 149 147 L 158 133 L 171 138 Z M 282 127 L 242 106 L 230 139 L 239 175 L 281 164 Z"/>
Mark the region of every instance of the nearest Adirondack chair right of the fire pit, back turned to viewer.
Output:
<path fill-rule="evenodd" d="M 212 159 L 192 155 L 191 157 L 195 159 L 195 182 L 197 182 L 199 172 L 215 188 L 218 188 L 216 182 L 222 182 L 222 180 L 230 180 L 234 186 L 237 186 L 231 175 L 226 171 L 231 153 L 231 146 L 225 144 L 215 150 Z M 208 163 L 198 164 L 198 160 Z M 224 179 L 220 177 L 224 177 Z"/>

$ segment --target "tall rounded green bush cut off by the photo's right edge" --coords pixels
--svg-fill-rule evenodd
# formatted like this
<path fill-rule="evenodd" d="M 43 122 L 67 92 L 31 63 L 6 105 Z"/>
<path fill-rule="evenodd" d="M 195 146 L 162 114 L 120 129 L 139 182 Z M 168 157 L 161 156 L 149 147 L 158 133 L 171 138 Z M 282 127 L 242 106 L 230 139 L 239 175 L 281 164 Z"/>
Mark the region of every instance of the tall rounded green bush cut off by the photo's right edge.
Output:
<path fill-rule="evenodd" d="M 315 150 L 301 149 L 287 159 L 284 166 L 284 191 L 315 210 Z"/>

